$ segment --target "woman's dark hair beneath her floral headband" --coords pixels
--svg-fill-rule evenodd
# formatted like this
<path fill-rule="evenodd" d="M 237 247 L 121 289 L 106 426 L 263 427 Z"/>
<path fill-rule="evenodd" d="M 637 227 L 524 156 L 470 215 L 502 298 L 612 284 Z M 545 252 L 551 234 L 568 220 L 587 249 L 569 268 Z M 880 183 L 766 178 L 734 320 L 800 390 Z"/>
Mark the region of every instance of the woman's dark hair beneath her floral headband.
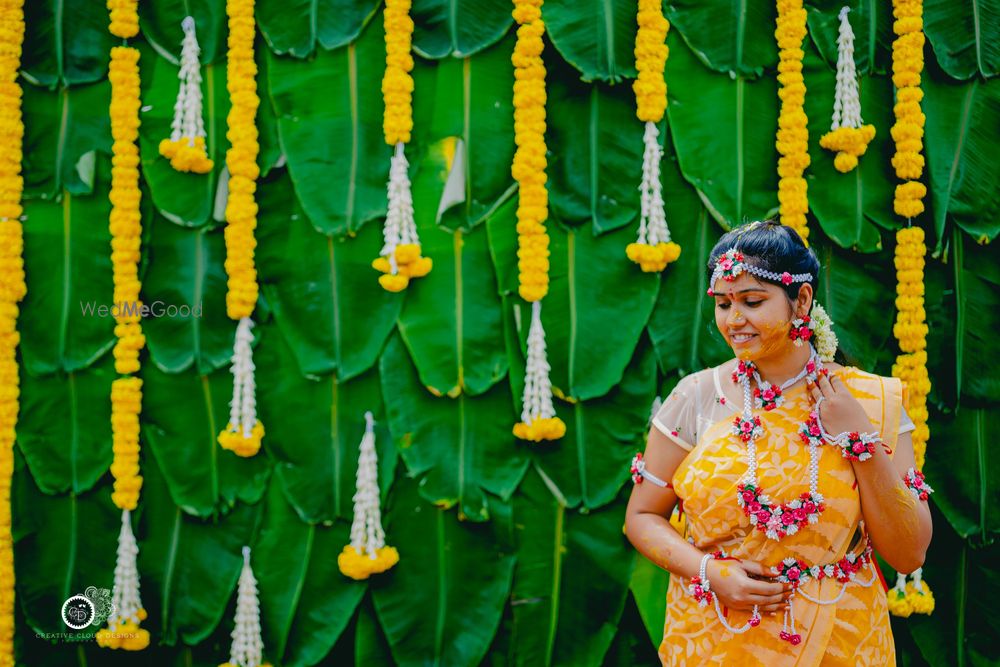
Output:
<path fill-rule="evenodd" d="M 708 256 L 708 273 L 715 270 L 716 261 L 730 248 L 736 248 L 744 255 L 744 261 L 774 273 L 787 271 L 791 274 L 811 273 L 813 294 L 816 293 L 819 278 L 819 259 L 811 248 L 807 248 L 791 227 L 773 220 L 754 221 L 726 232 L 712 248 Z M 751 274 L 753 275 L 753 274 Z M 802 283 L 784 285 L 779 281 L 754 276 L 757 280 L 778 285 L 785 290 L 788 298 L 795 300 Z"/>

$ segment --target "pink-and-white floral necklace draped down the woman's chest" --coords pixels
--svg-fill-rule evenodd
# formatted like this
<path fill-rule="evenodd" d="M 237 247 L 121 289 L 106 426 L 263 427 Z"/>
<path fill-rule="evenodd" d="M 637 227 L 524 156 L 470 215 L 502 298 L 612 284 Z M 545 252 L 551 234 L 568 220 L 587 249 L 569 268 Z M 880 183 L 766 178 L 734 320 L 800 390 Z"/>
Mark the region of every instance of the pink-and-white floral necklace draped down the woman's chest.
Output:
<path fill-rule="evenodd" d="M 761 379 L 752 361 L 740 360 L 733 371 L 733 382 L 743 387 L 743 413 L 733 421 L 733 434 L 747 445 L 747 472 L 744 481 L 737 485 L 736 500 L 743 513 L 750 518 L 750 524 L 765 533 L 772 540 L 780 540 L 786 535 L 794 535 L 802 526 L 819 521 L 820 512 L 825 509 L 823 496 L 819 492 L 819 448 L 822 439 L 803 437 L 809 445 L 809 491 L 787 503 L 778 504 L 762 492 L 757 480 L 757 439 L 764 434 L 760 417 L 755 417 L 752 407 L 771 411 L 784 403 L 782 392 L 802 378 L 815 382 L 820 373 L 825 373 L 816 349 L 811 348 L 809 360 L 795 377 L 780 386 Z M 757 382 L 751 391 L 750 378 Z M 802 429 L 809 432 L 809 422 Z M 800 433 L 802 431 L 800 430 Z"/>

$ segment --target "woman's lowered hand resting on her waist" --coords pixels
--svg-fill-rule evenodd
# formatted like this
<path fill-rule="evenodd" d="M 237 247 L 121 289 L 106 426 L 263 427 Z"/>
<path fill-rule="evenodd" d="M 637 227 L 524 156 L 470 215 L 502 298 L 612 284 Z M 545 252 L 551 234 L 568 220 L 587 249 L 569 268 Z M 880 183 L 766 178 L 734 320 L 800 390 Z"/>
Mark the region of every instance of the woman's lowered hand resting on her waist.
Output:
<path fill-rule="evenodd" d="M 761 616 L 774 616 L 785 610 L 791 584 L 774 579 L 776 572 L 749 560 L 716 560 L 706 570 L 712 593 L 721 604 L 737 611 L 753 611 L 758 605 Z M 755 578 L 759 577 L 759 578 Z"/>

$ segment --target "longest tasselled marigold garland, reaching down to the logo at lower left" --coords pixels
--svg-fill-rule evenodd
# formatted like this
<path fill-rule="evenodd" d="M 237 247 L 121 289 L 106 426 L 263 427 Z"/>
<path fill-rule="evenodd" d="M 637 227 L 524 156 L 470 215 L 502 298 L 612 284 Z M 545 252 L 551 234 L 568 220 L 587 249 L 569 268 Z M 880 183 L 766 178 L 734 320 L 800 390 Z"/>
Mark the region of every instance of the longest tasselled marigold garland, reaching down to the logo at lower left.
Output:
<path fill-rule="evenodd" d="M 131 5 L 129 7 L 128 5 Z M 108 3 L 112 34 L 127 38 L 138 31 L 135 3 Z M 139 503 L 142 476 L 139 474 L 139 413 L 142 409 L 142 380 L 139 352 L 145 347 L 142 334 L 139 292 L 139 258 L 142 243 L 142 216 L 139 202 L 139 51 L 129 46 L 111 49 L 108 70 L 111 81 L 111 264 L 114 302 L 131 304 L 115 314 L 115 371 L 111 383 L 111 474 L 115 478 L 111 500 L 122 510 L 121 530 L 115 559 L 112 602 L 114 612 L 108 627 L 98 630 L 98 646 L 140 651 L 149 646 L 149 631 L 139 627 L 146 611 L 139 595 L 136 560 L 139 546 L 132 533 L 132 510 Z"/>

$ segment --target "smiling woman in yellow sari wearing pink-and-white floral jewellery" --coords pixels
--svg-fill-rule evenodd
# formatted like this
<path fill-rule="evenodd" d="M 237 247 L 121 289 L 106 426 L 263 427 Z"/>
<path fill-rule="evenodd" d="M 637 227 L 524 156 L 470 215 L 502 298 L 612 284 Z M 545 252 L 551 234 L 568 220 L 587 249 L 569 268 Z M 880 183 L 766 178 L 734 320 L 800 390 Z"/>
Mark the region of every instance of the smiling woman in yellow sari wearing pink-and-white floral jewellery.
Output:
<path fill-rule="evenodd" d="M 626 513 L 632 544 L 673 575 L 660 659 L 895 664 L 872 549 L 909 573 L 932 530 L 930 489 L 907 476 L 906 390 L 832 362 L 836 338 L 813 300 L 819 261 L 790 227 L 729 232 L 708 266 L 736 358 L 664 401 Z M 667 520 L 678 502 L 683 535 Z"/>

